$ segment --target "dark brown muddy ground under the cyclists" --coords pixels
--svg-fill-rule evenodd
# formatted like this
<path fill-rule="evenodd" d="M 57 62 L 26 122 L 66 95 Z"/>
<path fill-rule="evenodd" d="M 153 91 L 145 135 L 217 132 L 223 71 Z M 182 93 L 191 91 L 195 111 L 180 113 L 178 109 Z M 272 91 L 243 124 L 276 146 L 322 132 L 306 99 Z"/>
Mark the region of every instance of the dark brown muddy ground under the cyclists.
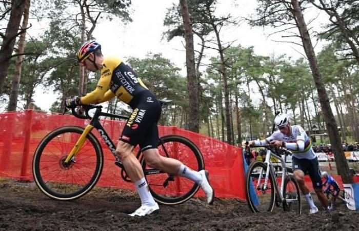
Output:
<path fill-rule="evenodd" d="M 0 180 L 0 230 L 359 229 L 359 211 L 347 210 L 340 203 L 332 214 L 321 209 L 309 215 L 304 201 L 298 216 L 280 208 L 270 214 L 252 214 L 245 202 L 216 199 L 207 205 L 195 198 L 181 205 L 162 205 L 157 215 L 127 216 L 138 206 L 139 199 L 131 191 L 95 188 L 81 199 L 61 202 L 47 198 L 33 182 Z"/>

